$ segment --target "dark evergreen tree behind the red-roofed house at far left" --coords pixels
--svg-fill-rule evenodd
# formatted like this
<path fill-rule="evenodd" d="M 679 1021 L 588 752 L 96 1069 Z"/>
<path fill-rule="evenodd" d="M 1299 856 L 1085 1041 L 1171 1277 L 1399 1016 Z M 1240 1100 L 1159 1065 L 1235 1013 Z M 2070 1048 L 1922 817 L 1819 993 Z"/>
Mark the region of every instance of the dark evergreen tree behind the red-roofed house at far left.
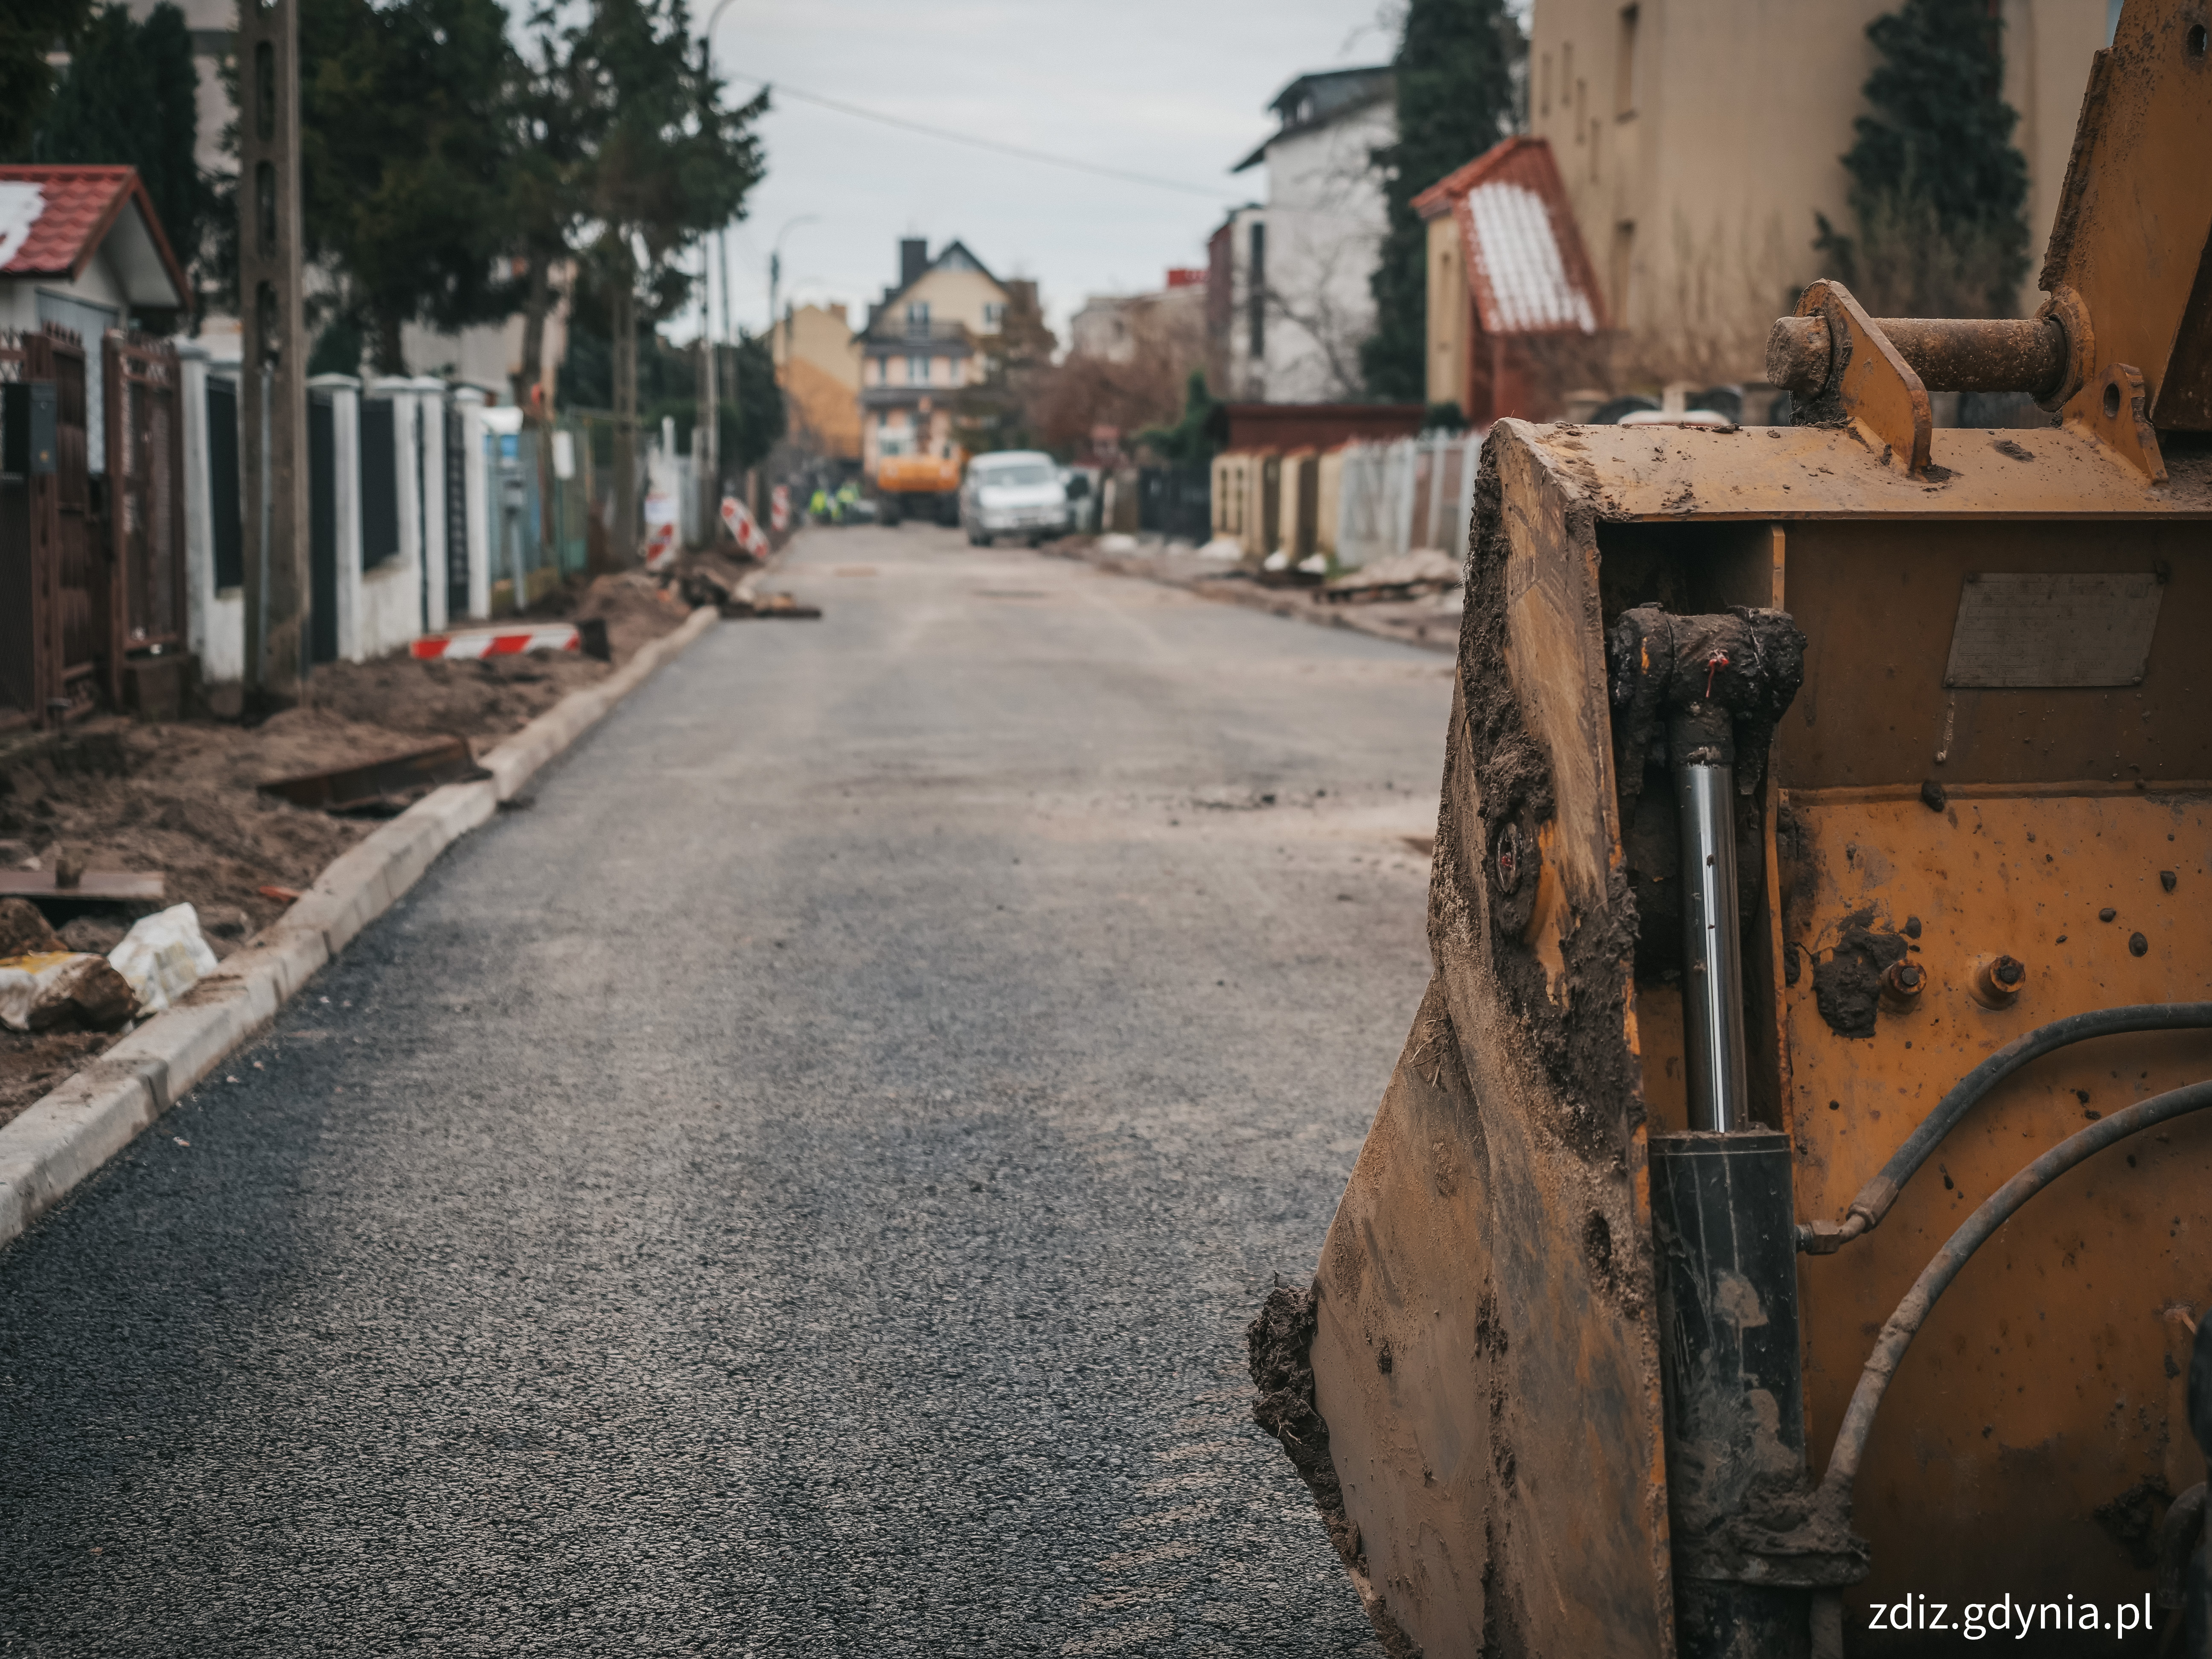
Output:
<path fill-rule="evenodd" d="M 197 142 L 199 71 L 184 13 L 164 0 L 137 22 L 117 4 L 97 11 L 71 44 L 31 159 L 137 168 L 168 246 L 190 270 L 215 208 L 192 159 Z"/>

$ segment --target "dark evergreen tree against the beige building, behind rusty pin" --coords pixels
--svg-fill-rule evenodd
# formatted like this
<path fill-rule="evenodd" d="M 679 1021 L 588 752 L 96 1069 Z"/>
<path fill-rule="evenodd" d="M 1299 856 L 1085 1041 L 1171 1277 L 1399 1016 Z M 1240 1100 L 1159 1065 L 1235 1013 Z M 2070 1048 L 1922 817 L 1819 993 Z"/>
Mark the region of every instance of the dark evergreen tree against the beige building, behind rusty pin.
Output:
<path fill-rule="evenodd" d="M 1858 234 L 1814 246 L 1876 316 L 2011 316 L 2028 270 L 2028 164 L 1986 0 L 1905 0 L 1867 24 L 1871 115 L 1843 157 Z"/>

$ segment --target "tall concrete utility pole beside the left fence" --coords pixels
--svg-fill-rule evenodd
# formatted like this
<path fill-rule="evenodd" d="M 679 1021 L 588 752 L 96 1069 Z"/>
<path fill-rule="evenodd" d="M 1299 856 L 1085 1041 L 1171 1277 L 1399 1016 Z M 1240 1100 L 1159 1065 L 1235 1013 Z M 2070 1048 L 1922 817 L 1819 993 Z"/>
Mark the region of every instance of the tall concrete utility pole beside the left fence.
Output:
<path fill-rule="evenodd" d="M 307 316 L 301 294 L 299 0 L 239 0 L 239 473 L 246 690 L 307 672 Z"/>

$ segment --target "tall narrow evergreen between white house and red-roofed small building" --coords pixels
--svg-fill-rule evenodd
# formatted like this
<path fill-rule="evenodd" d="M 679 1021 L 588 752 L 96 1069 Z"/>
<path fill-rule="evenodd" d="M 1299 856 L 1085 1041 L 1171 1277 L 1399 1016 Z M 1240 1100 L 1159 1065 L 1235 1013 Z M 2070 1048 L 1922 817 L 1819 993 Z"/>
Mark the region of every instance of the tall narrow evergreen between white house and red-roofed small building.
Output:
<path fill-rule="evenodd" d="M 1409 0 L 1398 42 L 1398 142 L 1374 153 L 1389 201 L 1369 276 L 1376 332 L 1360 345 L 1367 394 L 1427 398 L 1429 228 L 1413 197 L 1515 126 L 1513 66 L 1526 51 L 1506 0 Z"/>

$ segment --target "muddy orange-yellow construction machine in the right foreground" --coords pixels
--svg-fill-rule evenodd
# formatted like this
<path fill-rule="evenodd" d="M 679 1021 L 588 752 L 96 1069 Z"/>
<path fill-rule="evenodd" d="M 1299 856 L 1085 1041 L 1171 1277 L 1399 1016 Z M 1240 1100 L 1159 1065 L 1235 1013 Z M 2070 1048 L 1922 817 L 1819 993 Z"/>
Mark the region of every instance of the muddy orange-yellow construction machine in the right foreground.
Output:
<path fill-rule="evenodd" d="M 1433 978 L 1250 1338 L 1400 1659 L 2212 1655 L 2208 31 L 2126 0 L 2033 319 L 1484 445 Z"/>

